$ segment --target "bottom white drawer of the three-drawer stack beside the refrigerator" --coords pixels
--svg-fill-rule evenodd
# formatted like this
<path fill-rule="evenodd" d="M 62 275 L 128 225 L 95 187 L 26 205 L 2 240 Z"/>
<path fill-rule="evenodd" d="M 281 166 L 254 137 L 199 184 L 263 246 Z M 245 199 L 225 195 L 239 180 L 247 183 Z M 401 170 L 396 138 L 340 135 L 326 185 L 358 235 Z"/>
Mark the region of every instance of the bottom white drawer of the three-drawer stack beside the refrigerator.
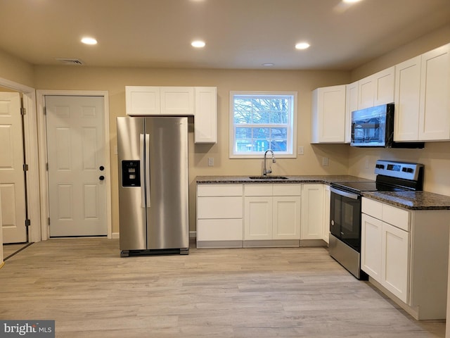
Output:
<path fill-rule="evenodd" d="M 198 241 L 242 241 L 243 221 L 230 220 L 198 220 Z"/>

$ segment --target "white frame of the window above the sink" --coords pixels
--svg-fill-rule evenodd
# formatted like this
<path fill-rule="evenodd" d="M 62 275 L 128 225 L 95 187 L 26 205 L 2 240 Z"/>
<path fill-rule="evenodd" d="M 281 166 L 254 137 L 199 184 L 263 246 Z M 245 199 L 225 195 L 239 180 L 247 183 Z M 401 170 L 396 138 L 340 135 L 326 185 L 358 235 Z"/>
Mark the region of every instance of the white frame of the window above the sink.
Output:
<path fill-rule="evenodd" d="M 280 153 L 274 151 L 277 158 L 297 158 L 297 92 L 271 92 L 271 91 L 230 91 L 229 96 L 229 158 L 262 158 L 264 152 L 251 153 L 236 153 L 235 152 L 235 130 L 236 126 L 234 123 L 234 97 L 236 95 L 242 96 L 293 96 L 293 108 L 292 114 L 290 116 L 290 130 L 288 130 L 288 144 L 287 151 Z M 289 137 L 292 134 L 292 137 Z M 290 144 L 290 140 L 292 143 Z"/>

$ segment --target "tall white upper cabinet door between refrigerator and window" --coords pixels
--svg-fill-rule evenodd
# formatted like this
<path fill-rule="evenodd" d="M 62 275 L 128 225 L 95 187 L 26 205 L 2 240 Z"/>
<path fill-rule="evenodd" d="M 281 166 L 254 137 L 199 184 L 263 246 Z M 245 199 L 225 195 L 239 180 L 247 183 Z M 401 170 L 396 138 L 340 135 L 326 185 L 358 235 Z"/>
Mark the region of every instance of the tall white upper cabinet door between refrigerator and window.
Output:
<path fill-rule="evenodd" d="M 195 87 L 194 142 L 217 143 L 217 87 Z"/>

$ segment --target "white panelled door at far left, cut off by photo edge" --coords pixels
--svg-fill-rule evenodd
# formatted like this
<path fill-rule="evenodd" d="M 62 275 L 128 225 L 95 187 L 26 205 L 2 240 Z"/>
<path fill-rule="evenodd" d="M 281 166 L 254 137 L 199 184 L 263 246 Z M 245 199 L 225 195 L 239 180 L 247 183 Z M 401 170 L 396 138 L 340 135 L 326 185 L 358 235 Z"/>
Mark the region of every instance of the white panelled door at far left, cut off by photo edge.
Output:
<path fill-rule="evenodd" d="M 22 117 L 17 92 L 0 92 L 0 199 L 3 242 L 27 242 Z"/>

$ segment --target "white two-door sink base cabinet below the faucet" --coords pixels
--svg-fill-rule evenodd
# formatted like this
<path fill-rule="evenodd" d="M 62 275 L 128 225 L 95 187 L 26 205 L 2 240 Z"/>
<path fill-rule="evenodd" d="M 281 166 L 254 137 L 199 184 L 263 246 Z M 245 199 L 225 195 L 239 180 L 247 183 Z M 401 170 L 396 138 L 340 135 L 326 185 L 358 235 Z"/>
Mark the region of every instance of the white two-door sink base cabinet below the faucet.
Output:
<path fill-rule="evenodd" d="M 244 246 L 298 246 L 300 196 L 301 184 L 245 184 Z"/>

